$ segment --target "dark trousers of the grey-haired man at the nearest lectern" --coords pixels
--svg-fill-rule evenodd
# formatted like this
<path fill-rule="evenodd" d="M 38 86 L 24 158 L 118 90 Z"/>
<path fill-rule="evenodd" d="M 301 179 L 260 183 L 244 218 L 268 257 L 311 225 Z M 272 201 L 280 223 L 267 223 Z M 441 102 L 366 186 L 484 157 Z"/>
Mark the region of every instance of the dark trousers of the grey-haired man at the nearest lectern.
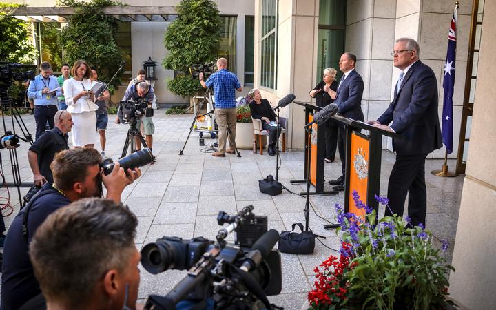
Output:
<path fill-rule="evenodd" d="M 389 176 L 388 199 L 385 216 L 403 216 L 406 194 L 409 194 L 408 214 L 411 225 L 425 225 L 427 191 L 425 185 L 425 158 L 427 154 L 397 155 Z"/>

